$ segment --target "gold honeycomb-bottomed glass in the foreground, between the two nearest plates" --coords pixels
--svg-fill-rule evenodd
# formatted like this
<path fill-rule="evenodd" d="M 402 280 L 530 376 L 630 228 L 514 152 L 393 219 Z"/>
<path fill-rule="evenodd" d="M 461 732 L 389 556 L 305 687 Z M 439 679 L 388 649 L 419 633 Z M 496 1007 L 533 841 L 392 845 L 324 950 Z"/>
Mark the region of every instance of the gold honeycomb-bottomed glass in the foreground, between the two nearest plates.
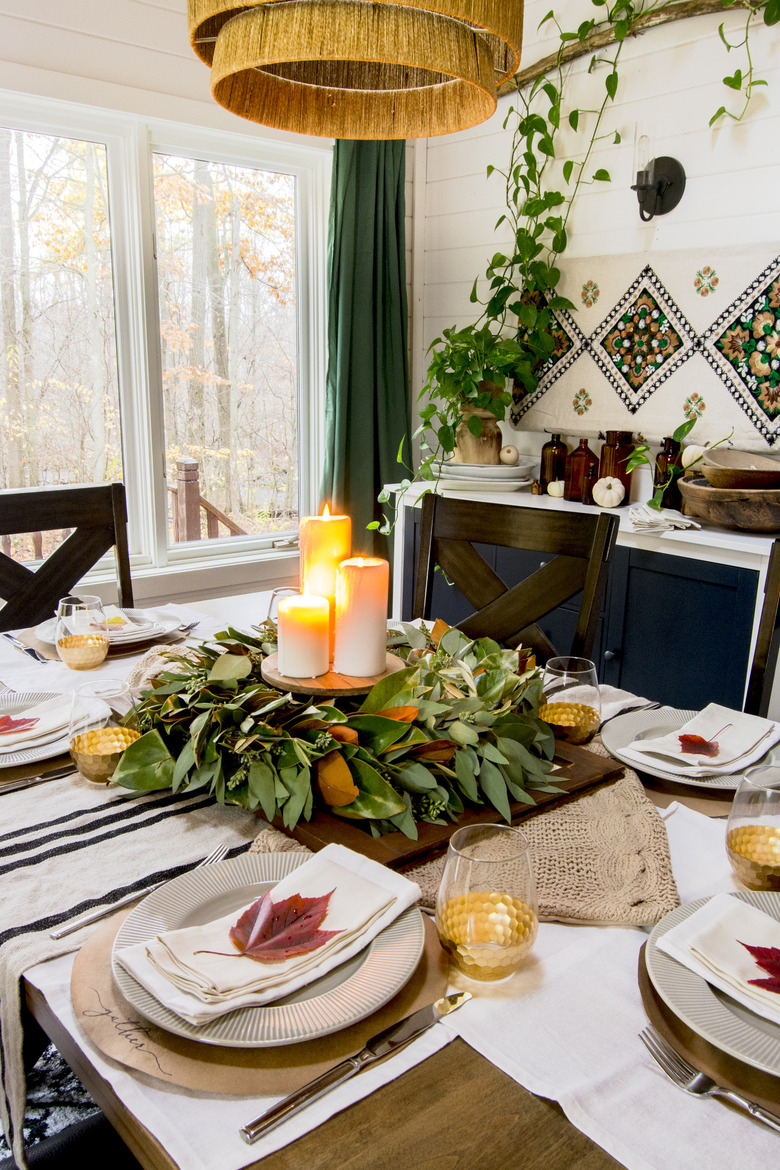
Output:
<path fill-rule="evenodd" d="M 538 921 L 525 834 L 509 825 L 469 825 L 453 833 L 436 930 L 458 971 L 481 983 L 510 978 L 533 947 Z"/>

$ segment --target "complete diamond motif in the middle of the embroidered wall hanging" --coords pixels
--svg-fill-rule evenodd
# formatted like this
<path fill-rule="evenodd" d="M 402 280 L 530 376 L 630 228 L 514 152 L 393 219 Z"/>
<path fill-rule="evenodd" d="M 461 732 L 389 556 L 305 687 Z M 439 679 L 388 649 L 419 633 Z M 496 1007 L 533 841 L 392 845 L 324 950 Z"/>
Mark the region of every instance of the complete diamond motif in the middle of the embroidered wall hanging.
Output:
<path fill-rule="evenodd" d="M 643 268 L 587 347 L 634 414 L 693 353 L 696 335 L 653 269 Z"/>

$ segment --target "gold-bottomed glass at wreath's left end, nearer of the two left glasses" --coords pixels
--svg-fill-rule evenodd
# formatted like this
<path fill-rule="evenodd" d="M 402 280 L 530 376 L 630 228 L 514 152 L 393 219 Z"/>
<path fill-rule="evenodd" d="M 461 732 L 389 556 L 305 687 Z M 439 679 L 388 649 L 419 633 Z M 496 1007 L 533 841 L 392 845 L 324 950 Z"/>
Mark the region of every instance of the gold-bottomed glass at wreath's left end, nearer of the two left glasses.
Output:
<path fill-rule="evenodd" d="M 139 735 L 126 682 L 101 679 L 76 687 L 68 742 L 73 760 L 84 779 L 108 784 L 123 751 Z"/>

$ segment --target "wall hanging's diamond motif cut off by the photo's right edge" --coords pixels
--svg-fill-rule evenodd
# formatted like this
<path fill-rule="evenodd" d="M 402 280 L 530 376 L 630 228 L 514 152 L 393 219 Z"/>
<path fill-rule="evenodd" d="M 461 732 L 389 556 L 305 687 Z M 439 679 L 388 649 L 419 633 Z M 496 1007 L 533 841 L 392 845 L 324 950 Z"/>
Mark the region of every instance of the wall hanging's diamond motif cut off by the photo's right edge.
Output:
<path fill-rule="evenodd" d="M 780 256 L 710 325 L 703 352 L 773 446 L 780 435 Z"/>

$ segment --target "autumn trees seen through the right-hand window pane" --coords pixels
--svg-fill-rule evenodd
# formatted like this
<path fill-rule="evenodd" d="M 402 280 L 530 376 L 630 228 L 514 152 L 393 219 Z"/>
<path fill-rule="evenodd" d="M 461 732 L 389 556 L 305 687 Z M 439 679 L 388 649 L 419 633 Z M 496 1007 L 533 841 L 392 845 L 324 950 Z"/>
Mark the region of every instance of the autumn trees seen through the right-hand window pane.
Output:
<path fill-rule="evenodd" d="M 295 528 L 295 179 L 156 154 L 154 191 L 168 486 L 194 461 L 234 532 Z"/>

